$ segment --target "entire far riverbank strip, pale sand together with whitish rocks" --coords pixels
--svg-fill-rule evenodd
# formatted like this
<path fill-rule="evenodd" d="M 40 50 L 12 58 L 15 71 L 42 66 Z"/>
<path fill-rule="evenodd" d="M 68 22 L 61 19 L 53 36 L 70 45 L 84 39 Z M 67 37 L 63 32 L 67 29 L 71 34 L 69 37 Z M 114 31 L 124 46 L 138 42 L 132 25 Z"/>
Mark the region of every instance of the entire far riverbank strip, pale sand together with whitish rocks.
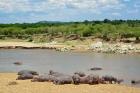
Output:
<path fill-rule="evenodd" d="M 75 51 L 75 52 L 102 52 L 102 53 L 122 53 L 139 54 L 140 43 L 109 43 L 100 41 L 69 41 L 65 43 L 34 43 L 26 41 L 0 41 L 0 49 L 55 49 L 57 51 Z"/>

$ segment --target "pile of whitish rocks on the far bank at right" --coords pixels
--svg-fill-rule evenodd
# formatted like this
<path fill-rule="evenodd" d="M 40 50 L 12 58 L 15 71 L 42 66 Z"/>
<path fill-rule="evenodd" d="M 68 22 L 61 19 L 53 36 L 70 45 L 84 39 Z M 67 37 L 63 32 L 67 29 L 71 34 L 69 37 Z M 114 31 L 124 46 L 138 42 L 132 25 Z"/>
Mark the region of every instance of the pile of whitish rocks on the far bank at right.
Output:
<path fill-rule="evenodd" d="M 108 43 L 103 44 L 102 42 L 97 42 L 95 44 L 92 44 L 90 49 L 98 53 L 138 53 L 137 48 L 133 45 L 121 43 L 112 45 Z"/>

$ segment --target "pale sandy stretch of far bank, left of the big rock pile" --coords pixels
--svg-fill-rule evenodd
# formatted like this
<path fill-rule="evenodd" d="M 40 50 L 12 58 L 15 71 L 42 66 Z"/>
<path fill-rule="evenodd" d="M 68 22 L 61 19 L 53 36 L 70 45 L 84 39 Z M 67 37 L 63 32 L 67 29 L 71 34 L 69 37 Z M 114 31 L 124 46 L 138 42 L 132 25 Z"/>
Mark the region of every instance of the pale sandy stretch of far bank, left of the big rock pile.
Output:
<path fill-rule="evenodd" d="M 0 49 L 55 49 L 60 51 L 61 49 L 68 49 L 73 51 L 88 51 L 89 45 L 71 45 L 65 43 L 33 43 L 25 41 L 0 41 Z"/>

